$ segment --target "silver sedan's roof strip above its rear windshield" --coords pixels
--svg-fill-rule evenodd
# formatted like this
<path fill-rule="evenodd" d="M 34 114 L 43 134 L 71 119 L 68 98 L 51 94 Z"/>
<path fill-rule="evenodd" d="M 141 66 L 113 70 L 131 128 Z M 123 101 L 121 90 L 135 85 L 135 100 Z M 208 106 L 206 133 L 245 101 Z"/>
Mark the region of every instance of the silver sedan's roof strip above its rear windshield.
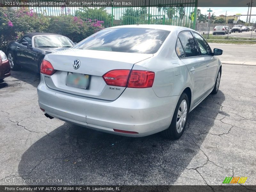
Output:
<path fill-rule="evenodd" d="M 148 29 L 160 29 L 160 30 L 166 30 L 166 31 L 182 31 L 182 30 L 191 30 L 195 31 L 191 28 L 186 27 L 180 27 L 180 26 L 173 26 L 173 25 L 120 25 L 115 27 L 110 27 L 106 29 L 111 28 L 148 28 Z"/>

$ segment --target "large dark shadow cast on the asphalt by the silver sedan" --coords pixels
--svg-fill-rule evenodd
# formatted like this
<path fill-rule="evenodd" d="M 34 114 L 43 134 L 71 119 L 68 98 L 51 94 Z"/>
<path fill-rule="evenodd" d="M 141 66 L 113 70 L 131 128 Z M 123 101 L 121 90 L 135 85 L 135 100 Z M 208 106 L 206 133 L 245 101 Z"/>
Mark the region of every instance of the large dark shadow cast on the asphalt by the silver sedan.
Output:
<path fill-rule="evenodd" d="M 25 151 L 19 175 L 41 180 L 34 185 L 172 185 L 214 129 L 224 100 L 221 91 L 209 95 L 190 113 L 179 140 L 160 133 L 129 138 L 64 123 Z"/>

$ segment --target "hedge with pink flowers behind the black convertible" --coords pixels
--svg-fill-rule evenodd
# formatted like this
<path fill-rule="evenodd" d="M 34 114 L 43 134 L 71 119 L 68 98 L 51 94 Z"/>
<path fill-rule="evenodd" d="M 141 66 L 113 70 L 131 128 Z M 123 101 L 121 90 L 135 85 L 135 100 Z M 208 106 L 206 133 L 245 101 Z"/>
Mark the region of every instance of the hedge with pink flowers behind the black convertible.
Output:
<path fill-rule="evenodd" d="M 61 15 L 47 17 L 26 8 L 0 7 L 0 50 L 6 51 L 7 44 L 30 32 L 57 33 L 79 42 L 103 29 L 103 21 Z"/>

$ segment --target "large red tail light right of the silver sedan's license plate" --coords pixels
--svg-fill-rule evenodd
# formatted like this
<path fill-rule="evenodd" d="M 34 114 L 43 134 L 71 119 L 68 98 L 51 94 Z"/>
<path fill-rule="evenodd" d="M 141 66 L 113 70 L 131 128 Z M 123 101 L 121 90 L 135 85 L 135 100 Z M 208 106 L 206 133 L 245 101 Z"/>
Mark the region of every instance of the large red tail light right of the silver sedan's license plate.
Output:
<path fill-rule="evenodd" d="M 103 76 L 107 85 L 129 88 L 149 88 L 154 83 L 155 73 L 144 70 L 117 69 Z"/>

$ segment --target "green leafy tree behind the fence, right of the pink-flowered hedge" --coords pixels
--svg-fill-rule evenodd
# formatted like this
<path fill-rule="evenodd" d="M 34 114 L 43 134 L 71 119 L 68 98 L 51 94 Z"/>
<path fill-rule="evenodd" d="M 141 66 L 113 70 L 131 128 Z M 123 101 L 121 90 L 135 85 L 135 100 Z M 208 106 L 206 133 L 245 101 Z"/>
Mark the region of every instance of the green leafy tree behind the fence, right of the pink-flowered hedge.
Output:
<path fill-rule="evenodd" d="M 80 17 L 82 20 L 96 19 L 104 21 L 104 27 L 109 27 L 112 20 L 111 14 L 108 14 L 108 12 L 105 10 L 105 7 L 94 7 L 92 9 L 88 7 L 79 8 L 79 10 L 76 10 L 75 16 Z"/>

